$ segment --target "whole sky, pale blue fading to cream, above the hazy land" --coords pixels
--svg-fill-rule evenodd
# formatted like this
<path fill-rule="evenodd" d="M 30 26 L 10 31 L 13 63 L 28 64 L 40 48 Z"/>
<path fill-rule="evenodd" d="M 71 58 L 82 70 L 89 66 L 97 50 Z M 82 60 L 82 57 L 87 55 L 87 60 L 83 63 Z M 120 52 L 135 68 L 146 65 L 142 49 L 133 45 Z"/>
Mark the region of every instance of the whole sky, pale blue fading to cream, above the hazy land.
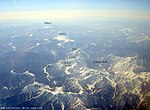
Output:
<path fill-rule="evenodd" d="M 48 17 L 47 12 L 51 12 L 49 16 L 63 12 L 68 16 L 85 14 L 149 19 L 150 0 L 0 0 L 0 19 L 32 17 L 33 14 L 34 17 Z"/>

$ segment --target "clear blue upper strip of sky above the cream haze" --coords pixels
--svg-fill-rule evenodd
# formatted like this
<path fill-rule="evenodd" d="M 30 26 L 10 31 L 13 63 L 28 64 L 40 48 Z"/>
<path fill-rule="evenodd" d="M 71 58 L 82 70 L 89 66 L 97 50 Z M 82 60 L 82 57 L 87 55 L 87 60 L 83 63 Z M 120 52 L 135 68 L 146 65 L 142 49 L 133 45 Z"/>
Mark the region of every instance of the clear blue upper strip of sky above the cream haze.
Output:
<path fill-rule="evenodd" d="M 150 0 L 0 0 L 0 11 L 150 10 Z"/>

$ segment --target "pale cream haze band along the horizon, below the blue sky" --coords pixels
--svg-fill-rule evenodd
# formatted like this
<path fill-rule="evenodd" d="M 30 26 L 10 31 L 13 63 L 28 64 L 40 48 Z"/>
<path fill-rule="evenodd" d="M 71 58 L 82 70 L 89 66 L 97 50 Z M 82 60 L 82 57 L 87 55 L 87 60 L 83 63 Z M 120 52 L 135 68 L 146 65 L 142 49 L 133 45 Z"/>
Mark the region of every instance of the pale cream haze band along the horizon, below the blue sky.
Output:
<path fill-rule="evenodd" d="M 150 20 L 150 11 L 124 11 L 124 10 L 47 10 L 47 11 L 12 11 L 1 12 L 0 20 L 21 19 L 80 19 L 80 18 L 116 18 Z"/>

